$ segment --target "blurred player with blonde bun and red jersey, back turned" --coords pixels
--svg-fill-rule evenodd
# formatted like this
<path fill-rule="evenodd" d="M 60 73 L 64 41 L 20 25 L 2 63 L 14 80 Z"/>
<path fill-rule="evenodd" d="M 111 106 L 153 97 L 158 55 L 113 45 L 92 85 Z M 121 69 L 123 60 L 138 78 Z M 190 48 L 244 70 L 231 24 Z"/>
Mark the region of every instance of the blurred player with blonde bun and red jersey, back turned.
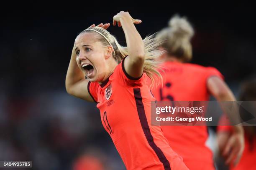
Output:
<path fill-rule="evenodd" d="M 203 67 L 185 63 L 192 58 L 190 43 L 194 30 L 185 18 L 174 16 L 169 27 L 156 35 L 157 42 L 166 52 L 159 57 L 163 61 L 163 86 L 159 85 L 152 92 L 156 100 L 161 101 L 207 101 L 209 95 L 217 100 L 235 100 L 235 97 L 223 81 L 223 76 L 213 67 Z M 213 170 L 213 156 L 205 146 L 206 126 L 162 126 L 164 136 L 173 150 L 183 157 L 190 170 Z M 236 128 L 236 127 L 234 127 Z M 231 146 L 239 159 L 243 150 L 243 130 L 236 128 L 232 134 Z M 235 142 L 237 145 L 235 145 Z M 230 161 L 228 158 L 228 162 Z"/>

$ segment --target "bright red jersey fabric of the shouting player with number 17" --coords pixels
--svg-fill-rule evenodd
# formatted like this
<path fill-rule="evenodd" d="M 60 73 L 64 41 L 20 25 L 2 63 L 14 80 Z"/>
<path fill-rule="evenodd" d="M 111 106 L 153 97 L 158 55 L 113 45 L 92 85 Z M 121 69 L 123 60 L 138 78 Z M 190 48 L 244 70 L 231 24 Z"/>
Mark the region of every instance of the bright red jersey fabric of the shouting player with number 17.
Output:
<path fill-rule="evenodd" d="M 104 87 L 97 82 L 90 83 L 90 93 L 98 102 L 102 125 L 112 138 L 126 168 L 163 170 L 160 159 L 165 157 L 172 170 L 187 170 L 182 158 L 169 146 L 161 128 L 151 126 L 151 101 L 155 98 L 147 85 L 146 73 L 138 80 L 131 80 L 120 63 L 109 81 L 103 84 Z M 111 96 L 107 100 L 106 92 L 110 94 L 110 91 Z M 138 97 L 140 95 L 141 98 Z M 136 100 L 142 102 L 138 104 Z"/>

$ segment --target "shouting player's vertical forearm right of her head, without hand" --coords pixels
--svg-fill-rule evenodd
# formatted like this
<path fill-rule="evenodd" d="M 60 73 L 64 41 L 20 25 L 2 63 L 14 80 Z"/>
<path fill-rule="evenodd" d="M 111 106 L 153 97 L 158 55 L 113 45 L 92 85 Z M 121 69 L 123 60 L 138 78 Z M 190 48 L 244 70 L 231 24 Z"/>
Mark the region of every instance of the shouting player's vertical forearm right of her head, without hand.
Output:
<path fill-rule="evenodd" d="M 126 45 L 130 59 L 136 61 L 145 56 L 145 47 L 141 35 L 135 28 L 131 18 L 120 18 L 123 31 L 125 33 Z"/>

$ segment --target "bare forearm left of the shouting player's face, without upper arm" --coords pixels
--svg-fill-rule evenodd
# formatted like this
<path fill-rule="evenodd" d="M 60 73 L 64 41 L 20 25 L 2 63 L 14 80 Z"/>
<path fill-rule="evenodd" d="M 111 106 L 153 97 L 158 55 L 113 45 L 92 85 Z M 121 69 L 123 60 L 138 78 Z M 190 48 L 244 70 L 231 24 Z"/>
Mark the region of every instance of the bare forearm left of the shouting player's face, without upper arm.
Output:
<path fill-rule="evenodd" d="M 76 54 L 74 52 L 74 47 L 72 50 L 71 59 L 69 62 L 69 67 L 66 75 L 66 90 L 69 91 L 72 85 L 80 80 L 84 79 L 84 73 L 77 66 Z"/>

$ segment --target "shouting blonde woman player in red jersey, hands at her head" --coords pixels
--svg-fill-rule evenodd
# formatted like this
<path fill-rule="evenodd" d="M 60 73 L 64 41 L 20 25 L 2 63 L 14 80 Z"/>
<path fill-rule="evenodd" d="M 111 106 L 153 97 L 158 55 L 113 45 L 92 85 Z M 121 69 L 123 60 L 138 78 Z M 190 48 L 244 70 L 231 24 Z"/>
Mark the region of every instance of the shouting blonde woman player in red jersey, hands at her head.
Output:
<path fill-rule="evenodd" d="M 97 102 L 102 124 L 128 170 L 187 170 L 161 128 L 150 125 L 151 100 L 155 99 L 147 75 L 154 81 L 159 74 L 153 59 L 161 52 L 152 36 L 142 40 L 134 26 L 141 20 L 121 11 L 113 17 L 116 23 L 123 28 L 127 47 L 100 27 L 87 28 L 76 37 L 67 92 Z"/>

